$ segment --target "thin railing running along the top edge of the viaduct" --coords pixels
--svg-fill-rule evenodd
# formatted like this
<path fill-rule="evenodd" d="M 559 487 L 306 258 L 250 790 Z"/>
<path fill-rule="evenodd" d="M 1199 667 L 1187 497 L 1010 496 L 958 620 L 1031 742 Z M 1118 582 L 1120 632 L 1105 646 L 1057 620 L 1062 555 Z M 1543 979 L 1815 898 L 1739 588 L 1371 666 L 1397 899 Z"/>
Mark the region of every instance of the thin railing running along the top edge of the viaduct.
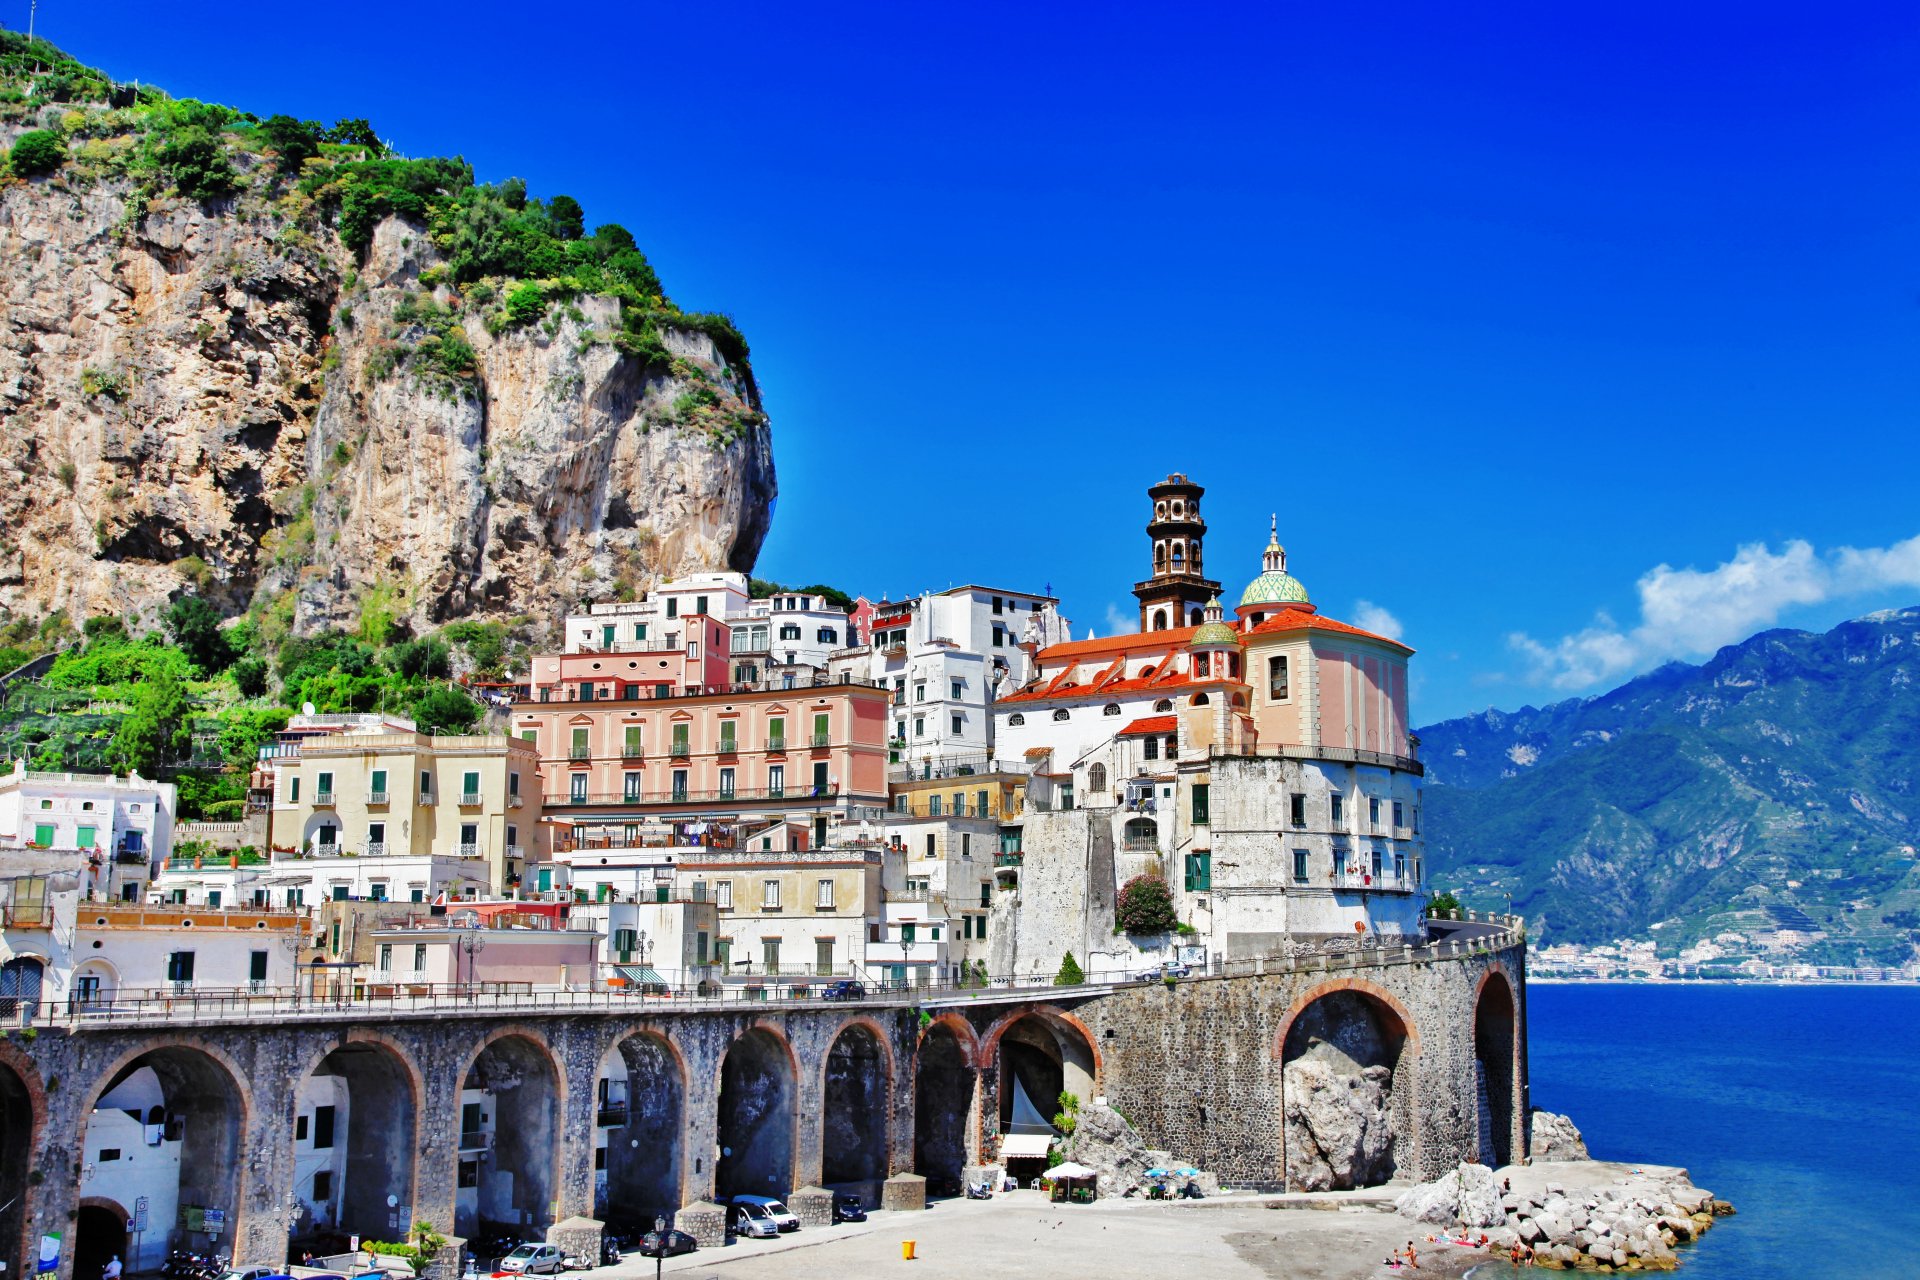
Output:
<path fill-rule="evenodd" d="M 1446 921 L 1436 921 L 1446 923 Z M 1517 915 L 1461 912 L 1457 929 L 1421 944 L 1375 938 L 1327 938 L 1296 942 L 1284 954 L 1213 960 L 1183 981 L 1267 977 L 1283 973 L 1346 973 L 1392 965 L 1423 965 L 1505 950 L 1526 938 Z M 1096 979 L 1079 986 L 1054 986 L 1044 977 L 998 977 L 972 984 L 877 984 L 866 983 L 856 998 L 833 992 L 831 1004 L 852 1006 L 948 1006 L 1060 1000 L 1106 994 L 1137 981 Z M 824 1007 L 833 986 L 824 981 L 764 984 L 703 983 L 645 984 L 624 990 L 605 986 L 534 986 L 530 983 L 367 983 L 340 992 L 298 988 L 227 988 L 127 998 L 27 1002 L 0 998 L 0 1027 L 61 1027 L 73 1031 L 165 1025 L 228 1025 L 263 1021 L 363 1021 L 367 1017 L 453 1017 L 495 1013 L 645 1013 L 724 1011 L 762 1007 Z"/>

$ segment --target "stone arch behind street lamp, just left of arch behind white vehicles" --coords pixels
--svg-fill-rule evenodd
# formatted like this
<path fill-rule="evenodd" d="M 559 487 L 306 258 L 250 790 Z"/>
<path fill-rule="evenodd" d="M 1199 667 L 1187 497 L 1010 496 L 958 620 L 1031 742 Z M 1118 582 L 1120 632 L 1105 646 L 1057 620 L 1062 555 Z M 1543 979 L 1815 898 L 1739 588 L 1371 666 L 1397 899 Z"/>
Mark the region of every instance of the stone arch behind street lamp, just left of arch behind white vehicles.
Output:
<path fill-rule="evenodd" d="M 595 1125 L 607 1134 L 607 1184 L 595 1203 L 597 1217 L 632 1234 L 651 1230 L 655 1217 L 672 1219 L 685 1201 L 687 1061 L 653 1027 L 622 1034 L 607 1057 L 620 1059 L 626 1092 L 618 1107 L 611 1092 L 595 1102 Z"/>

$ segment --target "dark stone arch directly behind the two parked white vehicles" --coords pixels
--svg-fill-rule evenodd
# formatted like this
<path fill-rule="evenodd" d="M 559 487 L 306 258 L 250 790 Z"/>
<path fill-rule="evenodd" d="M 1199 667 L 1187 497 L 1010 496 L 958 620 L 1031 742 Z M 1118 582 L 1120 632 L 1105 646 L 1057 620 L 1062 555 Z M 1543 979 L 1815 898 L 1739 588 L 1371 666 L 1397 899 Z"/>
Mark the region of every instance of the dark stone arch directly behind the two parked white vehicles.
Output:
<path fill-rule="evenodd" d="M 714 1128 L 716 1196 L 783 1197 L 793 1190 L 797 1080 L 793 1046 L 774 1027 L 749 1027 L 728 1046 Z"/>

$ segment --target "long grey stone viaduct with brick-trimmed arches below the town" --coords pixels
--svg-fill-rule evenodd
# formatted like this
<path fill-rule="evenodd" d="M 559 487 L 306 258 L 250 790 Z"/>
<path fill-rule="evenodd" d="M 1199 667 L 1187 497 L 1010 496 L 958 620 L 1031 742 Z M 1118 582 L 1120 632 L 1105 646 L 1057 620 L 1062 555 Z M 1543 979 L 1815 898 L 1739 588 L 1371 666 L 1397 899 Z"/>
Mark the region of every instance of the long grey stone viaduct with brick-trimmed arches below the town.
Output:
<path fill-rule="evenodd" d="M 0 1259 L 33 1274 L 58 1232 L 69 1280 L 88 1232 L 125 1226 L 127 1205 L 94 1203 L 81 1173 L 98 1100 L 140 1067 L 182 1144 L 180 1203 L 225 1211 L 219 1245 L 236 1263 L 286 1257 L 296 1096 L 313 1073 L 351 1096 L 340 1226 L 369 1236 L 390 1234 L 390 1205 L 453 1236 L 478 1230 L 459 1192 L 472 1159 L 463 1090 L 476 1088 L 497 1107 L 486 1159 L 513 1171 L 528 1234 L 574 1215 L 651 1222 L 741 1192 L 872 1196 L 887 1178 L 887 1201 L 908 1207 L 920 1184 L 897 1174 L 958 1190 L 995 1161 L 1016 1075 L 1043 1107 L 1060 1090 L 1106 1098 L 1148 1146 L 1229 1184 L 1279 1186 L 1292 1167 L 1283 1067 L 1356 1031 L 1390 1071 L 1394 1167 L 1430 1178 L 1526 1151 L 1524 961 L 1524 938 L 1496 927 L 1177 984 L 912 1002 L 636 1007 L 595 992 L 591 1007 L 42 1013 L 0 1040 Z M 599 1080 L 616 1059 L 630 1105 L 609 1117 Z M 601 1184 L 595 1128 L 609 1119 Z"/>

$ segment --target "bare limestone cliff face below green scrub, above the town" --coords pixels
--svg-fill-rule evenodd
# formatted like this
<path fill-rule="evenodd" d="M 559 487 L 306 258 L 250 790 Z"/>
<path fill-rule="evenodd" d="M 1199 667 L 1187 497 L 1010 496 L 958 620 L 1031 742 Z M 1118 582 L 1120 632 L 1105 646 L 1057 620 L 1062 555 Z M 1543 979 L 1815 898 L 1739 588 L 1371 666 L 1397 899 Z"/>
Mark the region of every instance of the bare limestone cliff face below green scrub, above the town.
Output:
<path fill-rule="evenodd" d="M 390 219 L 365 263 L 242 196 L 129 211 L 117 182 L 0 190 L 0 608 L 150 620 L 182 583 L 296 626 L 382 589 L 417 626 L 549 626 L 611 583 L 749 570 L 776 491 L 751 372 L 699 332 L 622 353 L 616 303 L 490 336 Z M 451 309 L 465 378 L 396 351 Z M 710 432 L 684 413 L 714 405 Z"/>

